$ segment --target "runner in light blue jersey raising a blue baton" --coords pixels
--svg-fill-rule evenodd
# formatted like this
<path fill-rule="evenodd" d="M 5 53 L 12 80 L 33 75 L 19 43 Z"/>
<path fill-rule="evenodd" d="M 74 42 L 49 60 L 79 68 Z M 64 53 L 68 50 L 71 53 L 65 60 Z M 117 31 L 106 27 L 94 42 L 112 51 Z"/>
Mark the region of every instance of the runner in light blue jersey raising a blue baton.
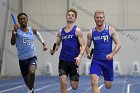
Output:
<path fill-rule="evenodd" d="M 11 45 L 16 44 L 19 66 L 24 82 L 28 87 L 28 93 L 34 93 L 35 71 L 37 68 L 37 57 L 34 45 L 34 35 L 42 43 L 43 50 L 47 47 L 40 33 L 31 27 L 27 26 L 28 17 L 25 13 L 18 15 L 20 26 L 14 25 L 12 31 Z"/>

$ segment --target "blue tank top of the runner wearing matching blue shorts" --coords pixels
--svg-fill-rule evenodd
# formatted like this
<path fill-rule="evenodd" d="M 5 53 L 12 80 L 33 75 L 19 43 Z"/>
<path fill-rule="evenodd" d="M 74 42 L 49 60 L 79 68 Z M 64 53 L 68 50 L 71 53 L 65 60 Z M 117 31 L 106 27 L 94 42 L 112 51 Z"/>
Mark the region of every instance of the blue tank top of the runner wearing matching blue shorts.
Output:
<path fill-rule="evenodd" d="M 109 26 L 105 25 L 102 32 L 93 28 L 92 40 L 94 43 L 93 58 L 107 60 L 106 55 L 112 52 L 112 37 L 109 33 Z"/>

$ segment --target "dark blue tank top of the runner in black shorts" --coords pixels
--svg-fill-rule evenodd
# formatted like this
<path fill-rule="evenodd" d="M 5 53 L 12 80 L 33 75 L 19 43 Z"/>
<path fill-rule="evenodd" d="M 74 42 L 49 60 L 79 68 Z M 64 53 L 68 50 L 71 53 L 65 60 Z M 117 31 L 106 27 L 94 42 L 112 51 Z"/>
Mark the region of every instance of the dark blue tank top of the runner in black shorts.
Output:
<path fill-rule="evenodd" d="M 62 49 L 59 59 L 67 62 L 75 62 L 75 58 L 80 53 L 80 44 L 76 36 L 77 26 L 74 26 L 70 32 L 65 32 L 64 28 L 61 31 Z"/>

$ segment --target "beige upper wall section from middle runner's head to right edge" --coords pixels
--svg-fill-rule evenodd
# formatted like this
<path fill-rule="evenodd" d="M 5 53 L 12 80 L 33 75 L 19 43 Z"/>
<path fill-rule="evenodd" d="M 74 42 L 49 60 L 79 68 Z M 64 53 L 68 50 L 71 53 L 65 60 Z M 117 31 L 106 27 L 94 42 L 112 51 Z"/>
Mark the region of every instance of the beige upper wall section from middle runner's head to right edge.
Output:
<path fill-rule="evenodd" d="M 140 12 L 136 11 L 139 4 L 140 0 L 69 0 L 69 7 L 78 11 L 77 24 L 89 29 L 94 24 L 91 17 L 97 9 L 104 10 L 106 22 L 115 27 L 140 28 Z"/>

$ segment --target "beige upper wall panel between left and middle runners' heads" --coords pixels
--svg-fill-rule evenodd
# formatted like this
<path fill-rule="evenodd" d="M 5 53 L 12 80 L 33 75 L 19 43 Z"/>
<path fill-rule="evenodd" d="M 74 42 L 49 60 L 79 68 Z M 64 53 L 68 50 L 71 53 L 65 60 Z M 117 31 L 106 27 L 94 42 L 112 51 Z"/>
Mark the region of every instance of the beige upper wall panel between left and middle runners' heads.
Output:
<path fill-rule="evenodd" d="M 23 0 L 23 12 L 36 29 L 58 29 L 65 24 L 67 0 Z"/>

